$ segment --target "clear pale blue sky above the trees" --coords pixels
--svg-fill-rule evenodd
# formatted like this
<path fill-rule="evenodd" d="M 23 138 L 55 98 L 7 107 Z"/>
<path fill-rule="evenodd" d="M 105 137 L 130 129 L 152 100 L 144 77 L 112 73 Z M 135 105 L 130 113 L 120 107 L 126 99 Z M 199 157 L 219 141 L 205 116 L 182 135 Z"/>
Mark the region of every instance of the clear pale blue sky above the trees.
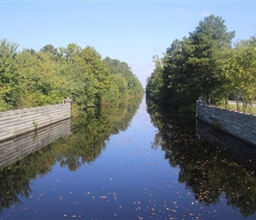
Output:
<path fill-rule="evenodd" d="M 193 32 L 210 14 L 225 19 L 236 40 L 256 35 L 256 1 L 2 1 L 0 40 L 40 50 L 76 43 L 102 58 L 127 62 L 143 86 L 153 56 Z"/>

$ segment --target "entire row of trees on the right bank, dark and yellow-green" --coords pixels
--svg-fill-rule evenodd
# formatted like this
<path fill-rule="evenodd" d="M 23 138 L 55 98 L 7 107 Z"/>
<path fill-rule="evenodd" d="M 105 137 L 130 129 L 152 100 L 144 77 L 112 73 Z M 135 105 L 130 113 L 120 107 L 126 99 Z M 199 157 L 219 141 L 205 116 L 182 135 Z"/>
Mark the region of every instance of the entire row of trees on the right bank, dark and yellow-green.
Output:
<path fill-rule="evenodd" d="M 256 97 L 256 38 L 238 40 L 224 19 L 210 15 L 182 40 L 173 40 L 147 78 L 147 99 L 192 111 L 199 97 L 218 105 L 229 98 L 252 105 Z"/>

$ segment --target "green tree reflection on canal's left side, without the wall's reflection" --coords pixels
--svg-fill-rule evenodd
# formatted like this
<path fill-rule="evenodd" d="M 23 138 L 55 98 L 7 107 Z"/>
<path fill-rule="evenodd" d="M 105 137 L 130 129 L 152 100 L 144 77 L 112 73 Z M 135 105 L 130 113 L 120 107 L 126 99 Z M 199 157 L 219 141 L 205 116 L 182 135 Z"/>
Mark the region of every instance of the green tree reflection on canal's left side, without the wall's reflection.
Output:
<path fill-rule="evenodd" d="M 0 168 L 0 213 L 29 197 L 30 180 L 44 176 L 60 163 L 71 171 L 93 163 L 106 148 L 109 136 L 128 128 L 142 97 L 123 99 L 101 108 L 89 108 L 72 121 L 72 135 L 37 150 L 12 165 Z"/>

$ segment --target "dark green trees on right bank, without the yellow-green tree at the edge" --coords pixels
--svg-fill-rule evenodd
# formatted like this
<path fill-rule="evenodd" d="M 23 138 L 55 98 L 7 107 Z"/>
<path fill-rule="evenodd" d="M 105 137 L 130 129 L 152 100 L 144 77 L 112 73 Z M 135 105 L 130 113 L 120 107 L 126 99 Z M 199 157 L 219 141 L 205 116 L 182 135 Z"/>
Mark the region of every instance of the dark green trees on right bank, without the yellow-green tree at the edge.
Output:
<path fill-rule="evenodd" d="M 231 48 L 234 36 L 234 32 L 227 32 L 221 17 L 210 15 L 200 21 L 188 38 L 174 40 L 167 48 L 162 70 L 156 65 L 147 80 L 147 97 L 158 95 L 154 99 L 159 99 L 160 104 L 181 106 L 180 109 L 190 109 L 187 106 L 192 106 L 198 97 L 207 99 L 207 104 L 219 100 L 220 88 L 227 82 L 219 66 L 220 58 L 223 50 Z"/>

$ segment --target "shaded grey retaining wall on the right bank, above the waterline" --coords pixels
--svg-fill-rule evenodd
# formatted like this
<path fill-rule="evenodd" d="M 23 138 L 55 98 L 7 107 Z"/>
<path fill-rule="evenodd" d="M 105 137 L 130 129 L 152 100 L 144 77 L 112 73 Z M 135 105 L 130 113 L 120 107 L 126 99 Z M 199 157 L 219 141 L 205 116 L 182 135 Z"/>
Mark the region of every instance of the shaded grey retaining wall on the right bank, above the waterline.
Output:
<path fill-rule="evenodd" d="M 199 105 L 199 119 L 219 128 L 246 143 L 256 145 L 256 116 L 222 109 L 215 106 Z"/>

